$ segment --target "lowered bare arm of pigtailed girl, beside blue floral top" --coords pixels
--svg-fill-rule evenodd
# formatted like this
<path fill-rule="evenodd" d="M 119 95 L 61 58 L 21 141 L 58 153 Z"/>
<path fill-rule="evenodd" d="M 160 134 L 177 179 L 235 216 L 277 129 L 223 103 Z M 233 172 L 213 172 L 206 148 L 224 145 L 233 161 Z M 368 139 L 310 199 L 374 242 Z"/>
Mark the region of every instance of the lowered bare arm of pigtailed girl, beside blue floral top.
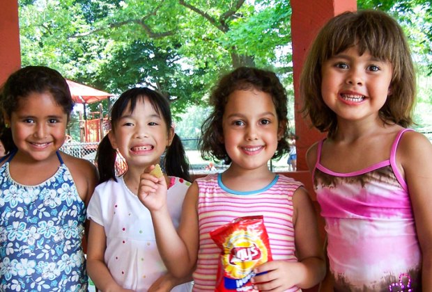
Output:
<path fill-rule="evenodd" d="M 130 291 L 119 286 L 109 273 L 104 256 L 107 248 L 107 236 L 102 225 L 90 220 L 90 232 L 87 245 L 87 273 L 95 286 L 101 291 Z"/>

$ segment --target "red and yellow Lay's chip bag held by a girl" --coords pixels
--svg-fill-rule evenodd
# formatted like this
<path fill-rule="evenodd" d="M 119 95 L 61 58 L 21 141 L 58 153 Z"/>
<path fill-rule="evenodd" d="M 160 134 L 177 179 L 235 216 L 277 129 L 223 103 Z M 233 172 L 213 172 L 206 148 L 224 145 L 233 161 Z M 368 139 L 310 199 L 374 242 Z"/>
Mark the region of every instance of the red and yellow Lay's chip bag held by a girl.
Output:
<path fill-rule="evenodd" d="M 221 249 L 215 291 L 256 291 L 254 268 L 272 260 L 263 216 L 248 216 L 210 232 Z"/>

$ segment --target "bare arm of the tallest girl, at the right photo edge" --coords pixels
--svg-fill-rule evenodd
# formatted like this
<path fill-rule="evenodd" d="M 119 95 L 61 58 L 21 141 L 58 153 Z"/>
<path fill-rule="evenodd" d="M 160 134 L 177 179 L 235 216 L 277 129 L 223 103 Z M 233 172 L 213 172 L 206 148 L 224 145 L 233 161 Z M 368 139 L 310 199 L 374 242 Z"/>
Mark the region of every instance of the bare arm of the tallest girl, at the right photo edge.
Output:
<path fill-rule="evenodd" d="M 432 145 L 422 134 L 406 132 L 396 153 L 405 173 L 422 249 L 422 288 L 432 291 Z"/>

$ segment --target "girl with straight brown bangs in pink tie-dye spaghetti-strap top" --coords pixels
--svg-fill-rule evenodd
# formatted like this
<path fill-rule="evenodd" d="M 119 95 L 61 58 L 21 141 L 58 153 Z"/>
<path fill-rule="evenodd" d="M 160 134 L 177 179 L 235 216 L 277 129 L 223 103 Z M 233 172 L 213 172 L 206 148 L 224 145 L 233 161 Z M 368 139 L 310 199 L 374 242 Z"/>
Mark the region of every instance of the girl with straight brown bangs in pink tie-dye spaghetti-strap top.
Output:
<path fill-rule="evenodd" d="M 432 145 L 412 124 L 415 73 L 399 24 L 330 19 L 303 68 L 304 113 L 327 138 L 307 163 L 325 218 L 324 291 L 432 291 Z"/>

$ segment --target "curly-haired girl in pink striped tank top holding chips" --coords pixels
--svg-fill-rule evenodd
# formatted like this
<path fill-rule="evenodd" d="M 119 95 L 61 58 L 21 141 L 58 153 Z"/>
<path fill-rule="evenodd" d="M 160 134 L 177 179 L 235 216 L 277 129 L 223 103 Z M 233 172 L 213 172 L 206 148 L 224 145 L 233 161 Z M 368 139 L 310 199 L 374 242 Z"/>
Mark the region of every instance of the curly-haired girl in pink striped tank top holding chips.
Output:
<path fill-rule="evenodd" d="M 162 259 L 177 277 L 193 271 L 194 291 L 217 286 L 220 250 L 210 232 L 244 216 L 263 216 L 273 257 L 240 280 L 250 279 L 249 289 L 300 291 L 325 275 L 307 191 L 268 168 L 270 159 L 288 152 L 286 100 L 273 72 L 240 67 L 222 77 L 210 97 L 213 113 L 203 124 L 200 146 L 204 158 L 230 165 L 190 186 L 178 233 L 167 213 L 164 181 L 141 176 L 139 198 L 151 211 Z"/>

